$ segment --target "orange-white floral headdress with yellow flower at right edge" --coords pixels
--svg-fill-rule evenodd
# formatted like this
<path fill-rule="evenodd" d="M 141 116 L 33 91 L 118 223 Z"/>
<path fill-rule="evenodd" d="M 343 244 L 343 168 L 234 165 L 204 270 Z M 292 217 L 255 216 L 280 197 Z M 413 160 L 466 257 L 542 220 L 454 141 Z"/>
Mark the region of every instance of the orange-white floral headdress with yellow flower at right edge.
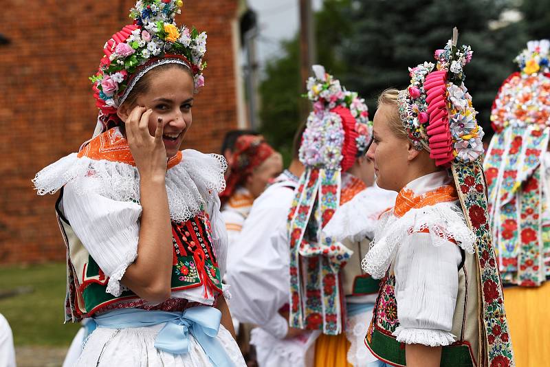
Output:
<path fill-rule="evenodd" d="M 511 74 L 498 90 L 491 111 L 494 131 L 507 126 L 550 126 L 550 41 L 529 41 L 517 57 L 521 72 Z"/>

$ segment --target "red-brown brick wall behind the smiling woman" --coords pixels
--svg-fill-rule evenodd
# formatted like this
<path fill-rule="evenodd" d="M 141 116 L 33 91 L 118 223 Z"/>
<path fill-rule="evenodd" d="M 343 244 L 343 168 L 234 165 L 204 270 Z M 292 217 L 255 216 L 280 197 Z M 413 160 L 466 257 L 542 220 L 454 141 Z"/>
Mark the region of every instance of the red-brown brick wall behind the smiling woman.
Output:
<path fill-rule="evenodd" d="M 7 3 L 6 3 L 7 1 Z M 131 0 L 6 0 L 0 33 L 0 264 L 63 260 L 56 196 L 37 197 L 34 174 L 72 153 L 94 131 L 88 76 L 111 34 L 131 23 Z M 237 125 L 236 0 L 186 0 L 177 23 L 208 32 L 206 87 L 193 107 L 185 148 L 219 149 Z"/>

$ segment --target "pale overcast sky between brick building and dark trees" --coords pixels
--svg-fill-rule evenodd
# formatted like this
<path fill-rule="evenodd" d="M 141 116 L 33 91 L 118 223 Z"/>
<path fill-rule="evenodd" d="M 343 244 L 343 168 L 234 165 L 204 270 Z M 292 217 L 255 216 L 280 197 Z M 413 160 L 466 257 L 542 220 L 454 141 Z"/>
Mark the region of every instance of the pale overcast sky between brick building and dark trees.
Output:
<path fill-rule="evenodd" d="M 318 10 L 322 0 L 312 0 L 312 3 L 314 10 Z M 248 0 L 248 5 L 258 14 L 260 34 L 256 43 L 257 57 L 263 67 L 265 60 L 279 54 L 279 41 L 296 34 L 299 0 Z"/>

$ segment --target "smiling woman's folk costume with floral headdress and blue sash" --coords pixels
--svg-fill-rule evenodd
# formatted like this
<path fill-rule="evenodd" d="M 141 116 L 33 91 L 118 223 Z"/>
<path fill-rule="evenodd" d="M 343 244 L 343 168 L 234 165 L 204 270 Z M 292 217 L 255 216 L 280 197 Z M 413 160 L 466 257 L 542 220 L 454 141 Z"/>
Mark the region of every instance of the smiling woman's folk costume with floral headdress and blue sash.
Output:
<path fill-rule="evenodd" d="M 203 85 L 206 34 L 177 28 L 181 1 L 135 3 L 132 25 L 104 46 L 91 78 L 100 109 L 94 137 L 41 170 L 38 193 L 61 190 L 58 223 L 67 246 L 66 322 L 91 318 L 78 366 L 244 366 L 214 308 L 223 297 L 227 236 L 218 193 L 225 159 L 186 150 L 168 159 L 166 192 L 173 233 L 171 297 L 151 304 L 120 280 L 137 257 L 140 173 L 116 111 L 137 80 L 168 63 Z"/>

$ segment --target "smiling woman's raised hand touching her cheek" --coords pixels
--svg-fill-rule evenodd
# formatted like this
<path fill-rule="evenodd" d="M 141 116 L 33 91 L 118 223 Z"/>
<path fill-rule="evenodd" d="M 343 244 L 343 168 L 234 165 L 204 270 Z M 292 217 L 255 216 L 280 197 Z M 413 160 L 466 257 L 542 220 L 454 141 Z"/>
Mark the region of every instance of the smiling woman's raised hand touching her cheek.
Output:
<path fill-rule="evenodd" d="M 148 122 L 153 111 L 145 107 L 135 107 L 126 119 L 126 137 L 142 180 L 164 181 L 166 175 L 166 149 L 162 142 L 164 125 L 157 121 L 155 136 L 151 136 Z"/>

